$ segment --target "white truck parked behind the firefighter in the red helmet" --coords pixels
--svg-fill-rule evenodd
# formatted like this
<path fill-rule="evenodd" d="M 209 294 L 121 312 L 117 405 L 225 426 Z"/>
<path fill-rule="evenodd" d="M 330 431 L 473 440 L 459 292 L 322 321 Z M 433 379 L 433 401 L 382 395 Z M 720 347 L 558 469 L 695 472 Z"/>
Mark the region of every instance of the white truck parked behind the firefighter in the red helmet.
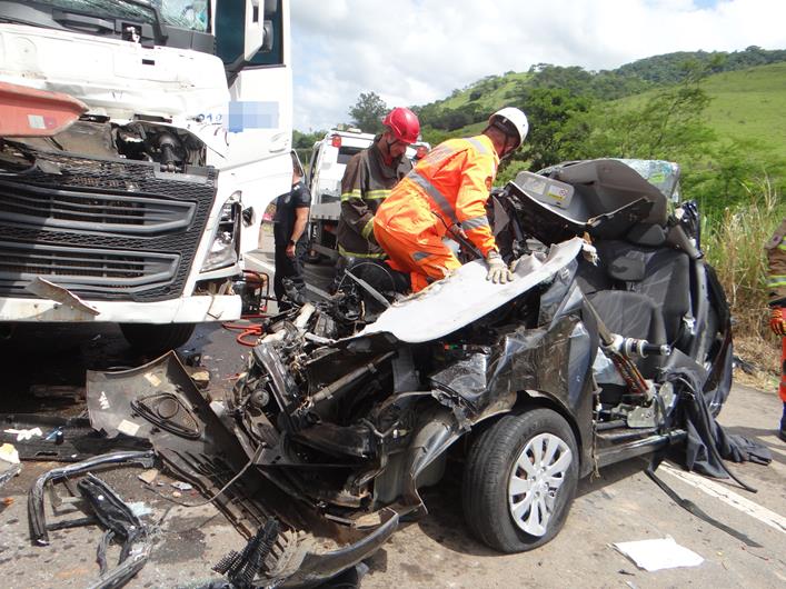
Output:
<path fill-rule="evenodd" d="M 314 143 L 307 178 L 311 191 L 308 259 L 312 263 L 321 258 L 338 258 L 336 229 L 341 214 L 341 178 L 352 156 L 370 147 L 374 137 L 356 128 L 331 129 Z M 407 148 L 407 157 L 414 163 L 430 149 L 427 142 L 412 143 Z"/>

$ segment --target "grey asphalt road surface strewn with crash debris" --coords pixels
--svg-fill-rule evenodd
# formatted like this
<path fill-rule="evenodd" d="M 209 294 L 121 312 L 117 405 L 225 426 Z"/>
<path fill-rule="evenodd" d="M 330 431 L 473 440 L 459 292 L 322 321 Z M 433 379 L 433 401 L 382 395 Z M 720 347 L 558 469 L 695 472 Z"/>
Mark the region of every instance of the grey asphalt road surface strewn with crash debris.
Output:
<path fill-rule="evenodd" d="M 242 370 L 248 349 L 235 343 L 235 333 L 206 326 L 183 349 L 198 350 L 211 372 L 211 393 L 228 390 Z M 80 345 L 70 351 L 63 342 Z M 87 368 L 138 363 L 117 328 L 50 330 L 31 335 L 32 350 L 3 352 L 6 411 L 79 415 L 81 402 L 40 400 L 27 391 L 31 385 L 80 386 Z M 498 555 L 468 533 L 460 510 L 460 476 L 451 466 L 446 478 L 425 492 L 429 515 L 406 523 L 367 565 L 364 588 L 387 587 L 784 587 L 786 563 L 786 445 L 775 435 L 780 403 L 772 392 L 735 387 L 720 421 L 732 432 L 755 436 L 773 450 L 768 467 L 734 466 L 744 480 L 758 488 L 748 493 L 733 483 L 708 481 L 663 467 L 661 478 L 683 497 L 715 519 L 743 532 L 760 547 L 749 547 L 677 507 L 643 472 L 646 463 L 633 460 L 601 471 L 580 483 L 579 496 L 561 533 L 547 546 L 523 555 Z M 19 477 L 0 491 L 0 577 L 6 588 L 86 587 L 98 575 L 96 527 L 53 532 L 48 547 L 30 543 L 26 493 L 52 462 L 26 462 Z M 151 560 L 128 585 L 131 588 L 199 587 L 217 579 L 210 571 L 229 550 L 242 547 L 238 532 L 210 506 L 175 507 L 146 491 L 139 469 L 101 473 L 126 501 L 142 501 L 149 520 L 161 521 Z M 171 496 L 172 479 L 160 475 L 157 490 Z M 185 492 L 181 500 L 198 501 Z M 8 505 L 7 505 L 8 503 Z M 780 515 L 778 515 L 780 513 Z M 645 572 L 617 552 L 614 542 L 674 538 L 704 558 L 695 568 Z"/>

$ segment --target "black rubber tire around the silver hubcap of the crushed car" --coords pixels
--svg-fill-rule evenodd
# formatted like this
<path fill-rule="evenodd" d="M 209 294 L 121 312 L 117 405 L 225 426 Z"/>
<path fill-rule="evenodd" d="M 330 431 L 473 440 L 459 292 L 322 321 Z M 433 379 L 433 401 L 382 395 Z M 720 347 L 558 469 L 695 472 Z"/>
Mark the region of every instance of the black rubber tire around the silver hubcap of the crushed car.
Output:
<path fill-rule="evenodd" d="M 561 440 L 571 455 L 561 477 L 563 482 L 555 491 L 554 508 L 545 533 L 531 535 L 514 521 L 508 502 L 508 482 L 521 452 L 541 433 Z M 503 417 L 475 440 L 465 465 L 461 489 L 464 517 L 475 537 L 500 552 L 524 552 L 551 540 L 565 523 L 576 496 L 578 462 L 573 430 L 559 413 L 550 409 L 533 409 Z M 523 470 L 520 473 L 526 476 Z"/>

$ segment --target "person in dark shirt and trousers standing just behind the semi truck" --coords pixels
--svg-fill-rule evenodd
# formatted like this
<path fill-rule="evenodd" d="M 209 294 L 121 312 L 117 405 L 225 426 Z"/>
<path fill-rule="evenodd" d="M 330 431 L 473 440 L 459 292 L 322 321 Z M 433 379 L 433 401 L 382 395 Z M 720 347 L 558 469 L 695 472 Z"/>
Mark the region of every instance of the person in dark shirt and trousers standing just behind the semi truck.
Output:
<path fill-rule="evenodd" d="M 276 201 L 273 217 L 273 240 L 276 243 L 276 277 L 273 292 L 278 308 L 286 311 L 292 302 L 306 300 L 306 281 L 302 276 L 304 258 L 307 249 L 306 227 L 311 193 L 302 181 L 302 169 L 292 153 L 292 189 Z M 283 279 L 291 282 L 295 294 L 287 293 Z M 293 299 L 293 300 L 292 300 Z"/>

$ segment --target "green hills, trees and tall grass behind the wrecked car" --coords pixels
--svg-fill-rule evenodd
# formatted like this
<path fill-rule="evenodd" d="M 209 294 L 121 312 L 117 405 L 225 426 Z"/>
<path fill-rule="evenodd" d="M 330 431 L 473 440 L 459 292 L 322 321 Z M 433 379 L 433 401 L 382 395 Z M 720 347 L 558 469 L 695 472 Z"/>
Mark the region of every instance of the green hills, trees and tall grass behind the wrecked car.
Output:
<path fill-rule="evenodd" d="M 354 121 L 379 120 L 375 107 L 381 101 L 375 98 L 360 94 L 350 110 Z M 737 331 L 763 341 L 763 244 L 786 214 L 786 50 L 678 52 L 599 72 L 539 63 L 411 108 L 424 140 L 434 146 L 477 134 L 489 113 L 505 106 L 527 113 L 530 132 L 500 166 L 498 186 L 521 169 L 567 160 L 679 162 L 683 198 L 699 201 L 703 246 L 724 282 Z M 296 133 L 296 148 L 310 149 L 315 139 Z"/>

